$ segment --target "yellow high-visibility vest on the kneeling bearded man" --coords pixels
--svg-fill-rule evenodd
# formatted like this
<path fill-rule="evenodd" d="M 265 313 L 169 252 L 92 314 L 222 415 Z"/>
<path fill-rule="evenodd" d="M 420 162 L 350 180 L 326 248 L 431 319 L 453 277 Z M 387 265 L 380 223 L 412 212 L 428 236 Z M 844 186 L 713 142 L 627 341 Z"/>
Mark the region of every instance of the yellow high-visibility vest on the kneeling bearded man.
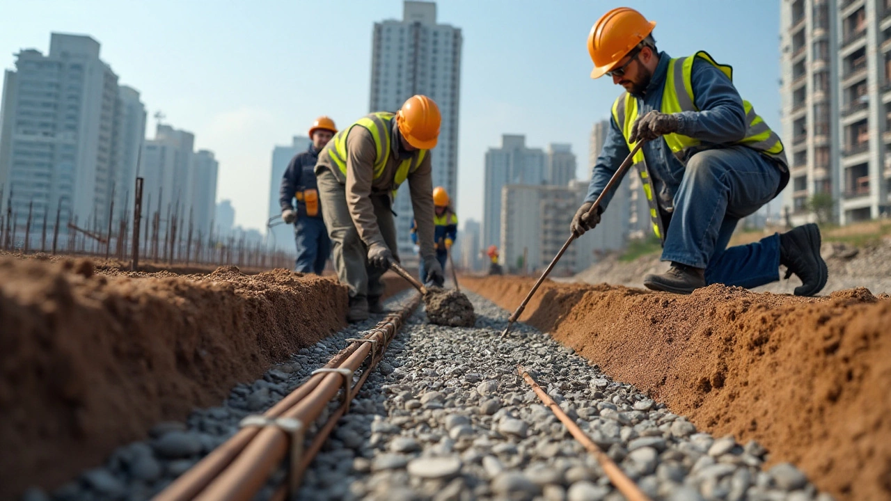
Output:
<path fill-rule="evenodd" d="M 718 64 L 705 51 L 699 51 L 691 56 L 684 58 L 675 58 L 668 62 L 668 70 L 666 71 L 665 88 L 662 91 L 662 107 L 663 113 L 679 113 L 681 111 L 699 111 L 696 107 L 695 96 L 693 95 L 692 73 L 693 62 L 697 57 L 705 59 L 715 65 L 716 68 L 722 70 L 727 78 L 733 81 L 733 69 L 726 64 Z M 780 136 L 771 130 L 759 117 L 752 107 L 752 103 L 746 100 L 742 101 L 742 106 L 746 111 L 746 136 L 740 141 L 734 143 L 748 148 L 752 148 L 757 152 L 764 153 L 767 156 L 781 162 L 783 165 L 789 165 L 786 160 L 786 152 L 783 148 Z M 625 143 L 628 149 L 634 148 L 634 144 L 628 142 L 631 136 L 631 127 L 634 120 L 637 119 L 637 99 L 631 94 L 625 93 L 616 99 L 612 107 L 612 116 L 616 120 L 618 127 L 622 129 L 622 136 L 625 136 Z M 682 136 L 680 134 L 666 134 L 662 136 L 668 147 L 678 159 L 687 158 L 687 153 L 691 149 L 699 146 L 699 139 L 690 136 Z M 653 185 L 650 182 L 650 169 L 647 168 L 646 161 L 643 158 L 643 151 L 638 150 L 634 154 L 634 167 L 637 168 L 641 176 L 641 185 L 643 192 L 647 197 L 647 203 L 650 204 L 650 219 L 653 225 L 653 233 L 658 236 L 659 240 L 665 243 L 665 229 L 662 225 L 662 218 L 659 216 L 658 204 L 656 202 L 655 193 L 653 193 Z"/>

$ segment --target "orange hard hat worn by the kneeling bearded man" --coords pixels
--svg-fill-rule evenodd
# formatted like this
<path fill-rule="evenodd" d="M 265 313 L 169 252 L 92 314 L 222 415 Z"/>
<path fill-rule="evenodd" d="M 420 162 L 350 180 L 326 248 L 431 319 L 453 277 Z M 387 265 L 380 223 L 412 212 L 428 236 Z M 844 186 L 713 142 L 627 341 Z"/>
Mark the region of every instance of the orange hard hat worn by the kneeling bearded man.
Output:
<path fill-rule="evenodd" d="M 601 16 L 588 33 L 588 53 L 594 69 L 591 78 L 601 78 L 656 27 L 641 12 L 617 7 Z"/>

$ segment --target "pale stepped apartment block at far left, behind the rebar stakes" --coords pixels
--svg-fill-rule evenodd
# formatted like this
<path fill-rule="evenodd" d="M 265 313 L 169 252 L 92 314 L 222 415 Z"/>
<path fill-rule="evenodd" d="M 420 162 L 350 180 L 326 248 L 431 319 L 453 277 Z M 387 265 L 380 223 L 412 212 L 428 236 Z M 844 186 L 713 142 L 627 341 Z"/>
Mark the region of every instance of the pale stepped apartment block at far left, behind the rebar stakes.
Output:
<path fill-rule="evenodd" d="M 5 72 L 0 185 L 22 224 L 33 202 L 34 220 L 52 215 L 48 226 L 61 208 L 66 225 L 105 228 L 112 191 L 126 196 L 142 103 L 99 49 L 91 37 L 53 33 L 47 55 L 24 49 Z"/>

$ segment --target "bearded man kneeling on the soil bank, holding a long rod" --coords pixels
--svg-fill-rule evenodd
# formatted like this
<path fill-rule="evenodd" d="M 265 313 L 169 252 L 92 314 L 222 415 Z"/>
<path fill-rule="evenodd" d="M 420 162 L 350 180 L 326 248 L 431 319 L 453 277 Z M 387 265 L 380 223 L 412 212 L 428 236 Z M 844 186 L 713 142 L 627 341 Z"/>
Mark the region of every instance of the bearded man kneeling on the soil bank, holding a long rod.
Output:
<path fill-rule="evenodd" d="M 634 145 L 645 141 L 634 167 L 662 260 L 671 267 L 647 275 L 644 285 L 677 293 L 710 283 L 752 288 L 779 280 L 783 265 L 787 278 L 794 273 L 802 281 L 797 295 L 820 292 L 827 269 L 816 225 L 727 249 L 740 218 L 789 182 L 786 153 L 780 137 L 740 97 L 730 66 L 705 52 L 677 59 L 658 52 L 654 26 L 640 12 L 620 7 L 604 14 L 588 36 L 591 77 L 607 75 L 625 93 L 613 103 L 609 132 L 571 230 L 581 235 L 600 222 L 613 193 L 591 218 L 587 210 Z"/>

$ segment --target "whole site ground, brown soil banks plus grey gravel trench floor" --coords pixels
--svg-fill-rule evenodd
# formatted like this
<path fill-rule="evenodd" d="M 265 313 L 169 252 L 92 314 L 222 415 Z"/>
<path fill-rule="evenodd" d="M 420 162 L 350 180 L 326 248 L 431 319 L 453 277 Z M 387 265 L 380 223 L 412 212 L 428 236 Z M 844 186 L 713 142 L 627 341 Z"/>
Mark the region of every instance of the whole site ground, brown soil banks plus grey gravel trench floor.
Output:
<path fill-rule="evenodd" d="M 476 324 L 415 312 L 301 497 L 623 499 L 523 364 L 654 499 L 891 499 L 887 294 L 548 281 L 501 339 L 534 279 L 459 279 Z M 331 276 L 0 256 L 0 498 L 150 498 L 380 319 L 346 308 Z"/>

